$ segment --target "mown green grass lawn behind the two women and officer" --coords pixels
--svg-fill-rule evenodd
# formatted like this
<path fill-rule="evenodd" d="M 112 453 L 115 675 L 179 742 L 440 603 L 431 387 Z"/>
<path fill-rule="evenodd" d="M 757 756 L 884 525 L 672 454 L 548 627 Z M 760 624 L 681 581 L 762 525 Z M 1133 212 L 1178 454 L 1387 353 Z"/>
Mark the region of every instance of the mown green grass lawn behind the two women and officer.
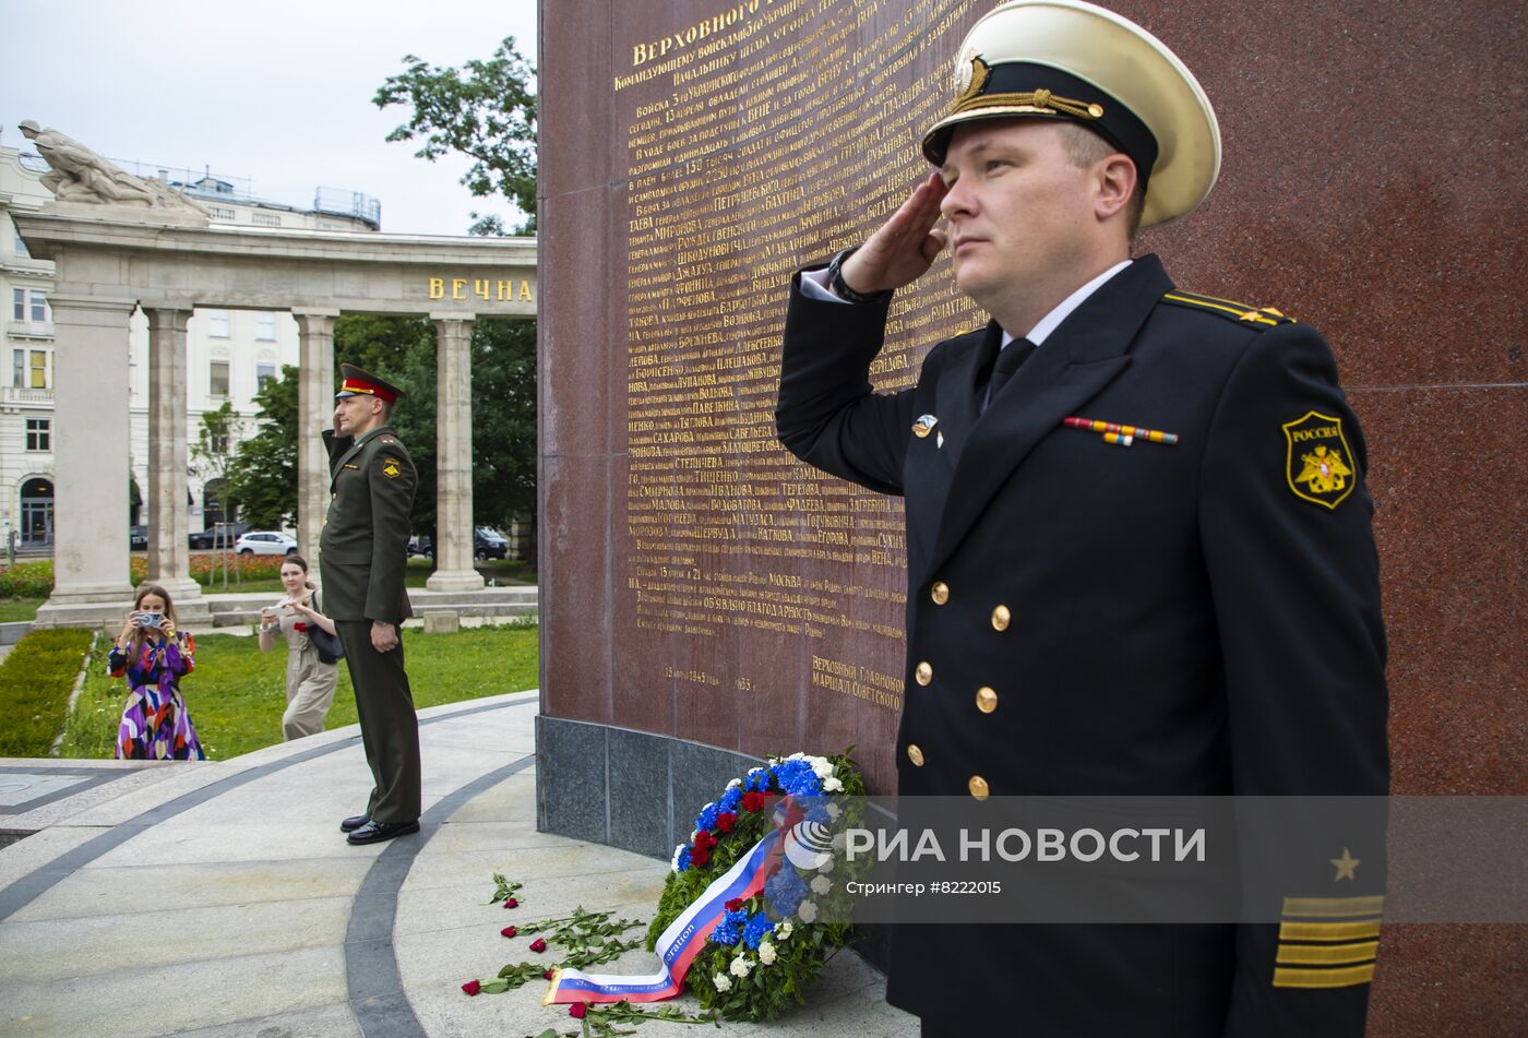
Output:
<path fill-rule="evenodd" d="M 105 654 L 69 720 L 63 757 L 112 757 L 127 683 L 105 676 Z M 536 628 L 478 627 L 455 634 L 403 631 L 414 706 L 439 706 L 536 686 Z M 254 637 L 205 634 L 196 639 L 196 670 L 180 693 L 209 760 L 228 760 L 281 741 L 286 709 L 286 647 L 261 653 Z M 325 728 L 356 723 L 356 697 L 345 665 Z"/>

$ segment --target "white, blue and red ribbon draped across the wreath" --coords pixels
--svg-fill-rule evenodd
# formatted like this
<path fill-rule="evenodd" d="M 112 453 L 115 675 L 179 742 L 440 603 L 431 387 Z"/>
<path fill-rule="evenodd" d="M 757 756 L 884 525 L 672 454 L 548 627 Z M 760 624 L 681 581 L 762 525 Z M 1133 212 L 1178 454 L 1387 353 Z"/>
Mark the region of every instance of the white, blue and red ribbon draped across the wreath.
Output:
<path fill-rule="evenodd" d="M 727 914 L 727 902 L 747 900 L 761 890 L 781 865 L 785 841 L 801 819 L 801 809 L 787 796 L 775 809 L 775 829 L 753 844 L 720 879 L 691 902 L 689 908 L 668 925 L 654 951 L 662 957 L 656 974 L 585 974 L 582 969 L 556 969 L 542 1006 L 562 1001 L 663 1001 L 685 991 L 685 974 L 695 957 L 706 949 L 711 931 Z"/>

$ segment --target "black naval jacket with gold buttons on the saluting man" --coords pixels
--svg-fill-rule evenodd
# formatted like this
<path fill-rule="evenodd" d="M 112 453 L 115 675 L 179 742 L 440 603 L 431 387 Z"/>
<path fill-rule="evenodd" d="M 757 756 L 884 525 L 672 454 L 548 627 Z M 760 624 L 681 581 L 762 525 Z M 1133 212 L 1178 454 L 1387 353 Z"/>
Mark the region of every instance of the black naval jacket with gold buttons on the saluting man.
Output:
<path fill-rule="evenodd" d="M 1320 335 L 1178 292 L 1148 255 L 981 414 L 996 324 L 876 394 L 886 309 L 798 275 L 776 425 L 906 498 L 903 798 L 1387 792 L 1374 506 Z M 1111 445 L 1071 416 L 1180 442 Z M 1291 446 L 1287 423 L 1314 433 Z M 1288 876 L 1314 922 L 895 926 L 888 1000 L 963 1035 L 1361 1035 L 1383 845 L 1329 859 L 1349 850 L 1369 862 L 1351 877 L 1326 855 Z"/>

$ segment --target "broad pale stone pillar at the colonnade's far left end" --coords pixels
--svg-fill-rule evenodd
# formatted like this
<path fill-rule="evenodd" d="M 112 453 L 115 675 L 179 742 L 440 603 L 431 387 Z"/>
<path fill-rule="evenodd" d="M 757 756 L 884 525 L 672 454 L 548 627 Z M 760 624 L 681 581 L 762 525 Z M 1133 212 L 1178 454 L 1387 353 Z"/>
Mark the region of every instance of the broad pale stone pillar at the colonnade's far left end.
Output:
<path fill-rule="evenodd" d="M 53 292 L 53 595 L 43 627 L 121 616 L 127 546 L 127 321 L 136 301 Z M 92 604 L 110 604 L 110 607 Z"/>

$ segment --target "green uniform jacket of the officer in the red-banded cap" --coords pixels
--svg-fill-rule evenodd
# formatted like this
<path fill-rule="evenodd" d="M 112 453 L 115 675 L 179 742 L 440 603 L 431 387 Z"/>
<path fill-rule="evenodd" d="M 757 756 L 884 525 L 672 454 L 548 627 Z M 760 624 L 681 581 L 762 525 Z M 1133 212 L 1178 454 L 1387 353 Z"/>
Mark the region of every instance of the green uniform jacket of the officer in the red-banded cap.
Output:
<path fill-rule="evenodd" d="M 324 433 L 329 448 L 329 521 L 319 538 L 324 608 L 336 621 L 402 624 L 413 616 L 408 566 L 410 509 L 419 475 L 391 425 L 359 439 Z"/>

